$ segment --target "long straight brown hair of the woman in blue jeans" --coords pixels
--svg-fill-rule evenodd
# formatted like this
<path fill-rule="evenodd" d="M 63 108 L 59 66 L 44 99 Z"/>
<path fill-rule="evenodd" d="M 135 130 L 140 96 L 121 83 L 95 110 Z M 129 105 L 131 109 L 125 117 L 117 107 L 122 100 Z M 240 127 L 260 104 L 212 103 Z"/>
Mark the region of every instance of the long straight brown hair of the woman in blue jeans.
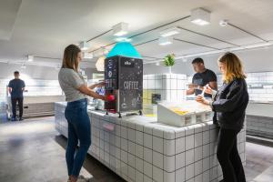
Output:
<path fill-rule="evenodd" d="M 74 69 L 77 72 L 78 61 L 77 55 L 81 49 L 77 45 L 68 45 L 64 51 L 63 66 L 64 68 Z"/>

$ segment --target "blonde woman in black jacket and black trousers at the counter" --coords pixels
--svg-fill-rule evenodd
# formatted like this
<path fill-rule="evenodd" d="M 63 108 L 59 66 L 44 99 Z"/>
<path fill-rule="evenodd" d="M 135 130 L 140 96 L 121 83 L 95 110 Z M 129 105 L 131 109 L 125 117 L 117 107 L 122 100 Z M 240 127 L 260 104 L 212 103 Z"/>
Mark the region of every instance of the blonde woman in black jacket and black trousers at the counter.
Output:
<path fill-rule="evenodd" d="M 244 126 L 248 106 L 248 86 L 238 56 L 226 53 L 218 59 L 223 74 L 223 86 L 217 91 L 207 87 L 212 94 L 209 101 L 197 96 L 197 102 L 210 105 L 215 112 L 214 123 L 220 127 L 217 140 L 217 159 L 222 167 L 224 182 L 246 182 L 244 168 L 238 154 L 237 135 Z"/>

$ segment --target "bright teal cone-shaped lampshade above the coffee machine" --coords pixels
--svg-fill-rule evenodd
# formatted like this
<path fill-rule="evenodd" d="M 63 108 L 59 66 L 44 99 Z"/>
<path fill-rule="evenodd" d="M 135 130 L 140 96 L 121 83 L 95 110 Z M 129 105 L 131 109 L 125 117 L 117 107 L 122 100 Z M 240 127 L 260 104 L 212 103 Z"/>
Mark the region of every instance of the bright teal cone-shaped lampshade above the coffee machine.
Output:
<path fill-rule="evenodd" d="M 142 58 L 136 51 L 136 48 L 128 42 L 119 42 L 112 48 L 106 58 L 111 56 L 126 56 L 133 58 Z"/>

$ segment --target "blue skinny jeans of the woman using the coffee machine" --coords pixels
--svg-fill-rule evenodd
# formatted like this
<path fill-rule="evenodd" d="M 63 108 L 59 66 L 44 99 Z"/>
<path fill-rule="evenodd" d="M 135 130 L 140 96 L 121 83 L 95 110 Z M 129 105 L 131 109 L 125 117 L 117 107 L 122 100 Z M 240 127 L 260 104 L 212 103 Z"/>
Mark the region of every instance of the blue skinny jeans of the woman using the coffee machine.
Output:
<path fill-rule="evenodd" d="M 89 116 L 87 115 L 87 100 L 81 99 L 68 102 L 65 116 L 68 122 L 68 143 L 66 147 L 68 176 L 78 177 L 88 148 L 91 145 L 91 126 Z M 80 147 L 76 152 L 78 140 Z"/>

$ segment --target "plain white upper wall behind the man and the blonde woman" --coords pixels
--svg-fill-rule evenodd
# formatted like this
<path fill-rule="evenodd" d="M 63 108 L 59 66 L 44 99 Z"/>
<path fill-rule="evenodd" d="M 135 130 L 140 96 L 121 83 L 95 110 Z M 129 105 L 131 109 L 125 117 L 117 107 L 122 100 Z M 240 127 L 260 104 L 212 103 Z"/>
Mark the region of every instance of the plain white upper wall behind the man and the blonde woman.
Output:
<path fill-rule="evenodd" d="M 235 52 L 241 60 L 243 61 L 245 72 L 264 72 L 264 71 L 273 71 L 273 47 L 263 48 L 258 50 L 248 50 L 243 52 Z M 217 58 L 220 55 L 216 56 L 201 56 L 207 68 L 219 73 L 217 67 Z M 178 60 L 176 65 L 173 66 L 172 72 L 177 74 L 186 74 L 191 76 L 194 74 L 194 70 L 191 66 L 191 61 L 193 58 L 187 60 L 187 63 Z M 156 66 L 155 64 L 145 65 L 144 74 L 159 74 L 167 73 L 168 69 L 165 66 Z"/>

